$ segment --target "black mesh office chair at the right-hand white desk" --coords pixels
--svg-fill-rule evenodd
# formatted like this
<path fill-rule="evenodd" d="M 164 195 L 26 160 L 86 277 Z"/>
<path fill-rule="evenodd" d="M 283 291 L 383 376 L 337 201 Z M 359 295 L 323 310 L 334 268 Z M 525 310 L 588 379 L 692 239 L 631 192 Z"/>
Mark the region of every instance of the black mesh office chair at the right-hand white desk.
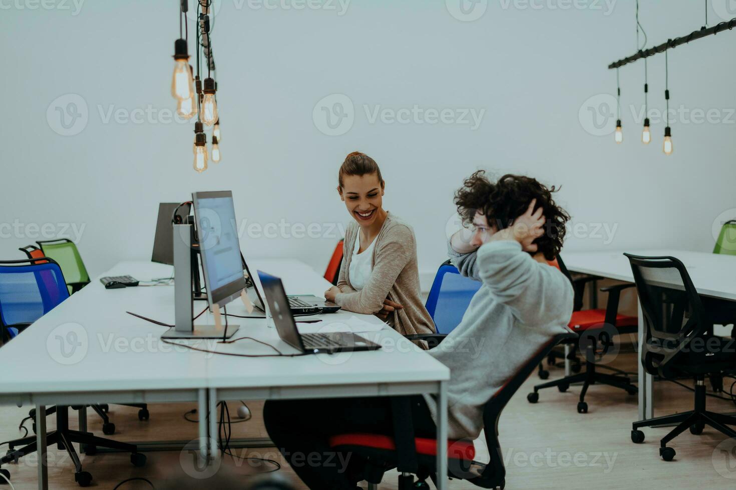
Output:
<path fill-rule="evenodd" d="M 662 438 L 659 455 L 672 461 L 675 450 L 667 443 L 686 429 L 701 434 L 705 425 L 728 437 L 736 431 L 736 417 L 705 409 L 705 376 L 736 367 L 732 341 L 712 335 L 712 323 L 684 264 L 674 257 L 643 257 L 625 253 L 631 262 L 644 314 L 641 362 L 646 372 L 673 379 L 682 375 L 695 381 L 695 408 L 691 411 L 640 420 L 631 425 L 631 441 L 644 442 L 639 430 L 653 425 L 679 424 Z"/>

